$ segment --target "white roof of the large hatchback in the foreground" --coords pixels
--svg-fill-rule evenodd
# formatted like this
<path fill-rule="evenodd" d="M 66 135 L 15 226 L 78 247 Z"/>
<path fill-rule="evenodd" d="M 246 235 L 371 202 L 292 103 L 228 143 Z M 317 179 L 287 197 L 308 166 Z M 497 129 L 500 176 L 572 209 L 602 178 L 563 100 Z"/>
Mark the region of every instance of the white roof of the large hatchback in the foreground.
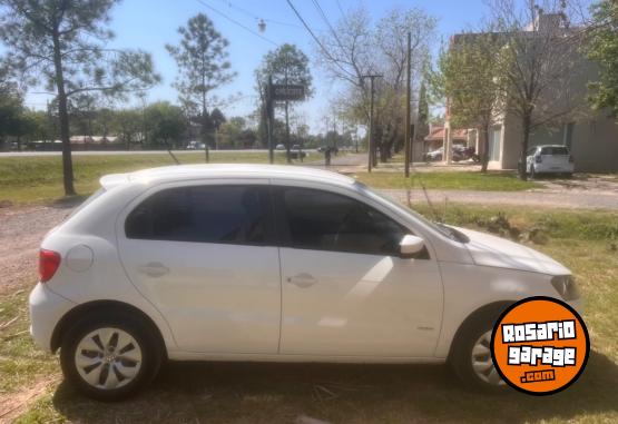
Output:
<path fill-rule="evenodd" d="M 352 185 L 354 179 L 341 174 L 298 166 L 286 165 L 244 165 L 244 164 L 200 164 L 175 165 L 143 169 L 127 174 L 109 174 L 100 179 L 106 189 L 133 181 L 174 183 L 192 179 L 210 178 L 256 178 L 256 179 L 294 179 L 322 181 L 337 185 Z"/>

